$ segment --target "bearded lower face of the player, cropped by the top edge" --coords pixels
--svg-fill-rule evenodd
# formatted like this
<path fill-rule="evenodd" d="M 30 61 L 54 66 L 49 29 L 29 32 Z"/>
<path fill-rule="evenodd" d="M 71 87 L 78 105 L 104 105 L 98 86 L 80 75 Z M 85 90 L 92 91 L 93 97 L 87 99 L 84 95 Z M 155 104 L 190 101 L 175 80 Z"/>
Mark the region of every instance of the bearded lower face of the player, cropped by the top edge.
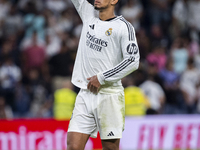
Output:
<path fill-rule="evenodd" d="M 94 1 L 94 8 L 96 10 L 103 10 L 107 9 L 109 6 L 111 6 L 112 0 L 95 0 Z"/>

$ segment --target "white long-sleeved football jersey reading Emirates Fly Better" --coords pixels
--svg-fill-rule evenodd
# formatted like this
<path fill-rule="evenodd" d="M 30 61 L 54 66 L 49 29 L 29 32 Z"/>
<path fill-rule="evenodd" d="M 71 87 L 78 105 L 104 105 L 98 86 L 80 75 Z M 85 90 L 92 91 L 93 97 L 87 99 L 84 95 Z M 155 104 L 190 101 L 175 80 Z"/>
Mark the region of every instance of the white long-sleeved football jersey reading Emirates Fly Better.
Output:
<path fill-rule="evenodd" d="M 72 2 L 83 21 L 72 83 L 87 89 L 87 78 L 97 75 L 101 85 L 121 86 L 121 79 L 139 66 L 133 26 L 122 16 L 100 20 L 87 0 Z"/>

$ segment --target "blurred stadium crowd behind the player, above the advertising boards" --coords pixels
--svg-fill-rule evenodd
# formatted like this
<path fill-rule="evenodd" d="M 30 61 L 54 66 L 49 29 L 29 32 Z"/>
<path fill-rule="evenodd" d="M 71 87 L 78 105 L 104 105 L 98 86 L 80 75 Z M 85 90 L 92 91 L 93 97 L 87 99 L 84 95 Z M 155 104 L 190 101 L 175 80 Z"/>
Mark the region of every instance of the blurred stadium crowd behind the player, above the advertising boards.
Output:
<path fill-rule="evenodd" d="M 200 113 L 200 0 L 121 0 L 116 14 L 141 55 L 126 115 Z M 0 118 L 70 118 L 81 28 L 70 0 L 0 0 Z"/>

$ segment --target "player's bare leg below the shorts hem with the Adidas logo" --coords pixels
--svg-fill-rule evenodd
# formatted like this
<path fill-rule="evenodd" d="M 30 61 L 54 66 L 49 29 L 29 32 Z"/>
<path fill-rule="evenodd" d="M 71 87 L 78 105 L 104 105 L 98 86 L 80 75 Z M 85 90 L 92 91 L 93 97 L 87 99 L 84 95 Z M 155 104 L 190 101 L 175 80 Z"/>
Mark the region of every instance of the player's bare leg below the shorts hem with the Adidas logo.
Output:
<path fill-rule="evenodd" d="M 103 150 L 119 150 L 120 139 L 101 140 Z"/>

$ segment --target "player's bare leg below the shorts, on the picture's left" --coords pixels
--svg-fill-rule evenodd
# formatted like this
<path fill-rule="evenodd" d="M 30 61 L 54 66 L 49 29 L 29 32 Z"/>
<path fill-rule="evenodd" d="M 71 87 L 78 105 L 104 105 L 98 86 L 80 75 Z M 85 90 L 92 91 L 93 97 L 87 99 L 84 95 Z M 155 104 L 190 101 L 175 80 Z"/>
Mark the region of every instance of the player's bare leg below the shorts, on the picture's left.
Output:
<path fill-rule="evenodd" d="M 67 133 L 67 150 L 84 150 L 89 134 L 79 132 Z"/>

